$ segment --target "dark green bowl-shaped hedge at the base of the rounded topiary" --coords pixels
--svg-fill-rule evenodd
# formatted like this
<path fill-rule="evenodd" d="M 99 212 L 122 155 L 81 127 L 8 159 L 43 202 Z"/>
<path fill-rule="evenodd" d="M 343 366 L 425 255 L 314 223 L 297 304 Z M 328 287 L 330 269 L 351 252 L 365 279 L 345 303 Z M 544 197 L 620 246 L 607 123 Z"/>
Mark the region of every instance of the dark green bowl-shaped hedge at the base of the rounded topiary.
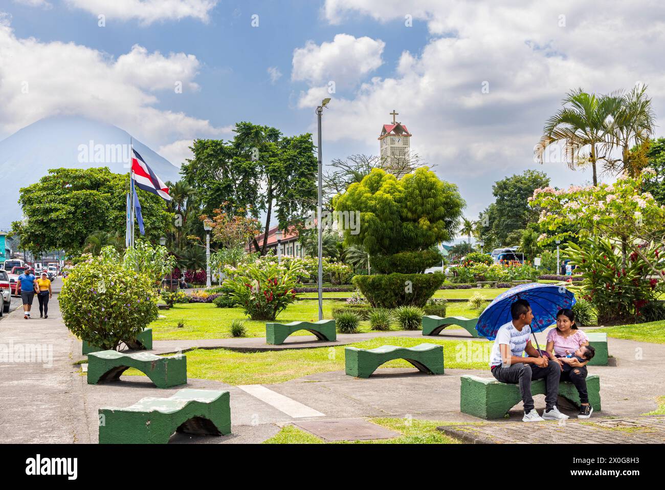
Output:
<path fill-rule="evenodd" d="M 379 274 L 355 276 L 353 284 L 378 308 L 397 308 L 412 305 L 422 308 L 444 283 L 446 276 L 434 274 Z"/>

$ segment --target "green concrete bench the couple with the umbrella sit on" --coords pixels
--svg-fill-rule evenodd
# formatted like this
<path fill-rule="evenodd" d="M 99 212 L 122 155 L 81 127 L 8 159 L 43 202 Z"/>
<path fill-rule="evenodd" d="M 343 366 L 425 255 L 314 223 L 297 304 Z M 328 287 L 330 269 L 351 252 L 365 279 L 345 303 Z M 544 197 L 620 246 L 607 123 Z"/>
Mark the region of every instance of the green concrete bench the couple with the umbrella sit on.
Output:
<path fill-rule="evenodd" d="M 460 377 L 460 411 L 481 419 L 500 419 L 522 401 L 519 385 L 501 383 L 493 377 L 478 377 L 470 374 Z M 589 403 L 595 411 L 600 411 L 600 378 L 587 376 Z M 545 379 L 531 381 L 531 394 L 545 394 Z M 579 407 L 577 388 L 569 381 L 559 383 L 559 396 Z"/>

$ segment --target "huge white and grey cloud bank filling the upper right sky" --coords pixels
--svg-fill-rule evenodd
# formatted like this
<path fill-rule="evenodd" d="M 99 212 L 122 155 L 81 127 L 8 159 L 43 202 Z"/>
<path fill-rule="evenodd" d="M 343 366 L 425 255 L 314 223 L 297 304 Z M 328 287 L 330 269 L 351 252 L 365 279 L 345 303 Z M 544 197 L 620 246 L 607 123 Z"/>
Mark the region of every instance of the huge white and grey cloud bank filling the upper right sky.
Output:
<path fill-rule="evenodd" d="M 404 18 L 412 15 L 414 25 L 427 23 L 432 37 L 418 53 L 402 53 L 391 77 L 374 77 L 352 95 L 336 97 L 326 115 L 328 140 L 370 141 L 396 108 L 426 159 L 438 163 L 443 174 L 464 178 L 487 168 L 510 171 L 533 164 L 543 124 L 577 87 L 608 93 L 641 81 L 649 85 L 656 114 L 665 113 L 662 3 L 639 11 L 618 0 L 519 5 L 420 0 L 408 6 L 386 0 L 381 5 L 327 0 L 324 14 L 333 24 L 358 15 L 395 23 L 405 37 L 412 30 Z M 295 61 L 294 55 L 294 66 Z M 483 83 L 489 93 L 483 93 Z M 301 107 L 315 107 L 319 95 L 305 93 Z M 541 168 L 554 172 L 561 165 Z"/>

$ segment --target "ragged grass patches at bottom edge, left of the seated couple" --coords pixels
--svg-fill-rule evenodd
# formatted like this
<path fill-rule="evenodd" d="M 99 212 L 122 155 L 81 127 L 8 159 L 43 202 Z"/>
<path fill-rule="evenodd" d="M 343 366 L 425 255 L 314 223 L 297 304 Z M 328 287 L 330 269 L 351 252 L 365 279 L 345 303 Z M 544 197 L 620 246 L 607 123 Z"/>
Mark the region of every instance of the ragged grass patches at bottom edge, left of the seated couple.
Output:
<path fill-rule="evenodd" d="M 401 433 L 392 439 L 375 439 L 369 441 L 344 441 L 342 443 L 359 444 L 457 444 L 457 439 L 448 437 L 436 427 L 446 422 L 420 419 L 396 419 L 389 417 L 375 417 L 371 422 Z M 303 431 L 294 425 L 285 425 L 279 433 L 264 441 L 264 444 L 323 444 L 325 441 L 319 437 Z"/>

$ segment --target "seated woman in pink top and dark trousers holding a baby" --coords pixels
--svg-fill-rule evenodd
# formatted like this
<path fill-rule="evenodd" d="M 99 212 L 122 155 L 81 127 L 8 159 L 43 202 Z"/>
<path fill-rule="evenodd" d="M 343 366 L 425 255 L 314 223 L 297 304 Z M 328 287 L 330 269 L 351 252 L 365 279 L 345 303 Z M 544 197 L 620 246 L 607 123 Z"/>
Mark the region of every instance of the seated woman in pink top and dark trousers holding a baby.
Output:
<path fill-rule="evenodd" d="M 582 346 L 589 346 L 589 338 L 575 325 L 573 310 L 567 308 L 559 310 L 557 313 L 557 328 L 553 328 L 547 334 L 545 350 L 547 355 L 561 366 L 561 381 L 571 381 L 577 387 L 581 403 L 577 418 L 588 419 L 593 412 L 593 408 L 589 405 L 589 394 L 587 393 L 587 363 L 589 360 L 581 362 L 579 359 L 571 358 L 566 363 L 571 369 L 564 369 L 564 363 L 561 360 L 561 358 L 573 354 Z"/>

